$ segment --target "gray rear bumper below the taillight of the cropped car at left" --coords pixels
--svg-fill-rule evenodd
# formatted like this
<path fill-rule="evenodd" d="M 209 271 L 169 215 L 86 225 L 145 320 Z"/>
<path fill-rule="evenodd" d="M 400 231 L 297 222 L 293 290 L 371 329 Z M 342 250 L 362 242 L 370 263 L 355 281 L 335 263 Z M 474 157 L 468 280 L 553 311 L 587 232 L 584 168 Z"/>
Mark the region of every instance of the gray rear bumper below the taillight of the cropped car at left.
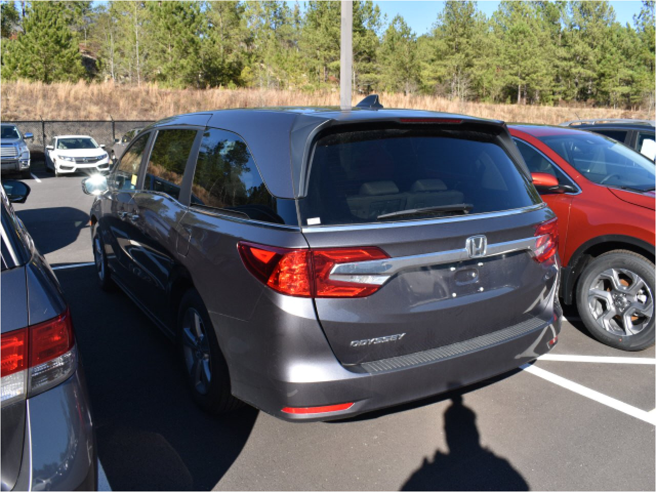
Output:
<path fill-rule="evenodd" d="M 27 401 L 14 490 L 97 490 L 98 458 L 81 365 L 68 380 Z"/>

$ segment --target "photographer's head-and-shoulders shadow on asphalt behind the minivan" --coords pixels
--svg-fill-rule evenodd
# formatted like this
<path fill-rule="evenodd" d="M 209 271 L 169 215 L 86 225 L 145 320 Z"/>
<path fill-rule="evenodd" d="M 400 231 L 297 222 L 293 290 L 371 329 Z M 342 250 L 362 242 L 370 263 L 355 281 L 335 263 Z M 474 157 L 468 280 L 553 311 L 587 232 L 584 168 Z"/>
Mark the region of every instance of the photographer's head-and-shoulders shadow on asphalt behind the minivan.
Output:
<path fill-rule="evenodd" d="M 510 462 L 481 446 L 476 413 L 462 403 L 462 395 L 451 401 L 444 413 L 449 453 L 438 449 L 432 461 L 424 458 L 401 490 L 529 490 Z"/>

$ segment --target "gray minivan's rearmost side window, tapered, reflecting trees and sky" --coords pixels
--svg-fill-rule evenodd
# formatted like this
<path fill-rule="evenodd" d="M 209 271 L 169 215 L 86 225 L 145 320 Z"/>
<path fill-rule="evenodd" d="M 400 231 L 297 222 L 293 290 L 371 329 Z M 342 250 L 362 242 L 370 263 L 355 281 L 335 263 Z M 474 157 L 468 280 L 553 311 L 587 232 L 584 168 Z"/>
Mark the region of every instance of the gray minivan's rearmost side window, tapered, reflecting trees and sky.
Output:
<path fill-rule="evenodd" d="M 282 224 L 246 142 L 228 131 L 203 134 L 192 185 L 192 205 Z"/>

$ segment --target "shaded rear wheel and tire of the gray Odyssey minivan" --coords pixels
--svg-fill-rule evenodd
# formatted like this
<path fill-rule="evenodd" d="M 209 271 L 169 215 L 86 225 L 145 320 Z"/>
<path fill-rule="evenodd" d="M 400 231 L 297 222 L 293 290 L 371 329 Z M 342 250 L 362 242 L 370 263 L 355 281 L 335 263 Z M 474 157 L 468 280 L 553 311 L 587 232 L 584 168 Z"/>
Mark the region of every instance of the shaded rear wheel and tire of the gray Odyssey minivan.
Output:
<path fill-rule="evenodd" d="M 182 368 L 197 405 L 211 415 L 241 407 L 243 403 L 232 396 L 228 365 L 207 309 L 194 289 L 186 291 L 180 301 L 176 335 Z"/>

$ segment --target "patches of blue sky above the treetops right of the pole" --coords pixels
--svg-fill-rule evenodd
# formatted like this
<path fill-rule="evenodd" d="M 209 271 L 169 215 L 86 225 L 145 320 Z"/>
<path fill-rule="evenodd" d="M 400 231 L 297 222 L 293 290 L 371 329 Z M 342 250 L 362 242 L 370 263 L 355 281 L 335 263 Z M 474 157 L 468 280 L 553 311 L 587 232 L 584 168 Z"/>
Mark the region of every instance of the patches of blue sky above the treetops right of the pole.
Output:
<path fill-rule="evenodd" d="M 403 20 L 415 34 L 422 35 L 430 31 L 432 24 L 438 18 L 438 12 L 444 5 L 443 1 L 437 0 L 378 0 L 374 1 L 380 7 L 380 12 L 387 14 L 390 22 L 396 14 L 401 14 Z M 624 25 L 626 22 L 633 24 L 633 14 L 640 12 L 640 0 L 615 0 L 610 4 L 615 10 L 617 22 Z M 497 6 L 498 1 L 482 0 L 478 2 L 478 10 L 481 10 L 486 16 L 491 16 Z"/>

